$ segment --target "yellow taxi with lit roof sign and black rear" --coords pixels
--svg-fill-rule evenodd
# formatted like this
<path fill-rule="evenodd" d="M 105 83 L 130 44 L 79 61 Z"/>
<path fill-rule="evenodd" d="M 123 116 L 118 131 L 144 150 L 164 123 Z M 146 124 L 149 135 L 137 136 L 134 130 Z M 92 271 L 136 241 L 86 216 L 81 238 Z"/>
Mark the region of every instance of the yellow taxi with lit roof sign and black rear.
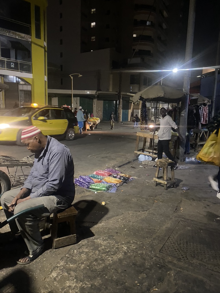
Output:
<path fill-rule="evenodd" d="M 79 131 L 77 119 L 69 108 L 31 104 L 12 109 L 0 116 L 0 141 L 21 142 L 21 132 L 33 125 L 44 135 L 73 140 Z"/>

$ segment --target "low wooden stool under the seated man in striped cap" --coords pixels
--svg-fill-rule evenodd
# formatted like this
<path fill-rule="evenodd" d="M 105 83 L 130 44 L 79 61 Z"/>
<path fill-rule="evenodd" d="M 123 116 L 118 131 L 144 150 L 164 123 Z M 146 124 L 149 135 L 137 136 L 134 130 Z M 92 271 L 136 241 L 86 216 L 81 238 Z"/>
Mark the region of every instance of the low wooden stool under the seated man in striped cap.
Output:
<path fill-rule="evenodd" d="M 75 207 L 69 207 L 65 211 L 57 211 L 53 214 L 53 224 L 51 229 L 51 239 L 53 240 L 53 248 L 59 248 L 76 243 L 76 215 Z M 71 235 L 57 238 L 58 223 L 69 222 Z"/>

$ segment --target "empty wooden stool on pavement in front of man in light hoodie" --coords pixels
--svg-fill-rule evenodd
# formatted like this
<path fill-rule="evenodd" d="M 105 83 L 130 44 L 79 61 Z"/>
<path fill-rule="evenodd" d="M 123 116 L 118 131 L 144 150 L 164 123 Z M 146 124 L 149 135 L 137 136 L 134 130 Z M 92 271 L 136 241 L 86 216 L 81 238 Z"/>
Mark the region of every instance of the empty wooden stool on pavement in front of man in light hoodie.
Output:
<path fill-rule="evenodd" d="M 157 171 L 155 178 L 153 180 L 155 181 L 155 186 L 157 186 L 157 182 L 162 183 L 164 186 L 164 189 L 167 190 L 167 184 L 172 184 L 174 188 L 176 188 L 176 182 L 175 174 L 174 174 L 174 166 L 175 163 L 171 160 L 167 159 L 159 159 L 156 161 L 157 165 Z M 167 178 L 167 168 L 170 166 L 171 168 L 171 178 Z M 163 168 L 163 176 L 159 176 L 160 168 Z M 161 179 L 162 178 L 162 179 Z"/>

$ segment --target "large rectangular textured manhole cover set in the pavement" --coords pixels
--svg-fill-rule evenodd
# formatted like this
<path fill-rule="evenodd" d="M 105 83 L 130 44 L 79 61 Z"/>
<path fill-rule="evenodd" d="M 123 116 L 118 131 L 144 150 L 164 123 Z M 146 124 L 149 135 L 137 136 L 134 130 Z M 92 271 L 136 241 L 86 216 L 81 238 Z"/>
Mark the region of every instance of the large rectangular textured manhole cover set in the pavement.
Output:
<path fill-rule="evenodd" d="M 220 273 L 219 239 L 219 231 L 180 221 L 160 252 Z"/>

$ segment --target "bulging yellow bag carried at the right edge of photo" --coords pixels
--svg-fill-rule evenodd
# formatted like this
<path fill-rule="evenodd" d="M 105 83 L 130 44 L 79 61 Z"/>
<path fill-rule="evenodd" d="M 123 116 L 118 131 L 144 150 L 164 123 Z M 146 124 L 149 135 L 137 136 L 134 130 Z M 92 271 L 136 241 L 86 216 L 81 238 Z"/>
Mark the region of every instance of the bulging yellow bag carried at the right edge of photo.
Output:
<path fill-rule="evenodd" d="M 196 158 L 220 167 L 220 130 L 217 135 L 216 130 L 210 135 Z"/>

